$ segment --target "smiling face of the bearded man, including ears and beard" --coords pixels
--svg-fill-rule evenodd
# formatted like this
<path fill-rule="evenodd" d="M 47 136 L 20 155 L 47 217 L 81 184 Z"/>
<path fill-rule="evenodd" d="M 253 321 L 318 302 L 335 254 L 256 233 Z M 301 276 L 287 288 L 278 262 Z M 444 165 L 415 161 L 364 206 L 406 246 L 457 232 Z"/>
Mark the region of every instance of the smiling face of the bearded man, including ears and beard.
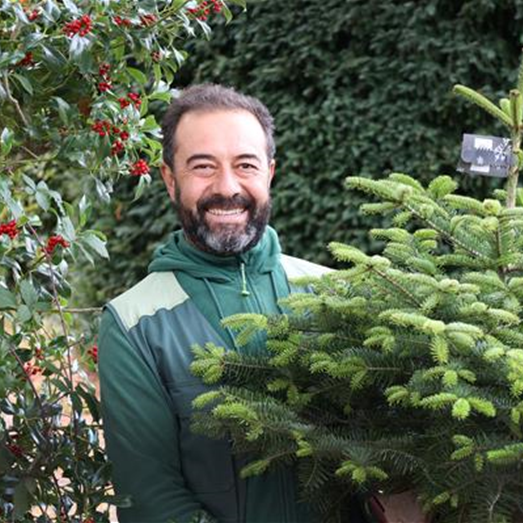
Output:
<path fill-rule="evenodd" d="M 174 141 L 174 172 L 164 165 L 162 176 L 189 241 L 220 255 L 253 247 L 269 220 L 274 176 L 256 117 L 244 110 L 189 112 Z"/>

